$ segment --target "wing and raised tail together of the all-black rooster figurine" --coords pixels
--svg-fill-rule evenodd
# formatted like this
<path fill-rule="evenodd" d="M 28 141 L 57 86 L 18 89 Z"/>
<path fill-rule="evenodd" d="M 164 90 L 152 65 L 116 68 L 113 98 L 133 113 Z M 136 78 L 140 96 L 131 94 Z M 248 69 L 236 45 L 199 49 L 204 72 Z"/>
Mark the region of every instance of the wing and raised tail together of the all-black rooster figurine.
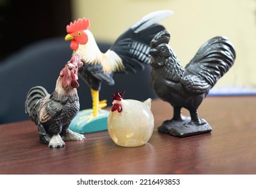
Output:
<path fill-rule="evenodd" d="M 234 47 L 227 38 L 217 36 L 208 40 L 185 66 L 181 84 L 191 93 L 208 93 L 234 64 L 235 57 Z"/>

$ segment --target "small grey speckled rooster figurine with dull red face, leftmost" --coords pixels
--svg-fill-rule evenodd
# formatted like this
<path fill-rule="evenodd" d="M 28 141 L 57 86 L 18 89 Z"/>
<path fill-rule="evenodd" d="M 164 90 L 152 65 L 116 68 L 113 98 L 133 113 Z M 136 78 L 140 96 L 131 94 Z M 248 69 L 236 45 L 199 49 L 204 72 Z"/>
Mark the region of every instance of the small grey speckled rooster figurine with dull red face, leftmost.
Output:
<path fill-rule="evenodd" d="M 38 126 L 40 141 L 49 144 L 49 148 L 63 147 L 66 140 L 84 139 L 84 135 L 69 130 L 71 120 L 79 111 L 77 71 L 80 66 L 79 56 L 73 56 L 61 70 L 51 95 L 40 86 L 28 91 L 25 111 Z"/>

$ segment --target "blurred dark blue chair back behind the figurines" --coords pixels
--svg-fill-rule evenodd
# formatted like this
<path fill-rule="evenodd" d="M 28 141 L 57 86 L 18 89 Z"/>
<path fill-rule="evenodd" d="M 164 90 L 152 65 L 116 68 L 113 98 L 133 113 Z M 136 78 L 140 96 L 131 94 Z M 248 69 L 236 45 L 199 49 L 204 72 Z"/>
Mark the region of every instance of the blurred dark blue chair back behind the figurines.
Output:
<path fill-rule="evenodd" d="M 55 83 L 64 64 L 70 60 L 72 51 L 64 37 L 50 38 L 36 42 L 5 58 L 0 64 L 0 124 L 28 120 L 24 111 L 26 94 L 31 87 L 40 85 L 49 93 L 55 89 Z M 100 50 L 105 52 L 110 44 L 99 43 Z M 107 99 L 111 105 L 111 95 L 115 91 L 125 90 L 125 99 L 146 100 L 156 95 L 150 88 L 150 66 L 137 74 L 114 76 L 115 85 L 102 84 L 100 100 Z M 80 109 L 92 108 L 90 89 L 78 80 Z"/>

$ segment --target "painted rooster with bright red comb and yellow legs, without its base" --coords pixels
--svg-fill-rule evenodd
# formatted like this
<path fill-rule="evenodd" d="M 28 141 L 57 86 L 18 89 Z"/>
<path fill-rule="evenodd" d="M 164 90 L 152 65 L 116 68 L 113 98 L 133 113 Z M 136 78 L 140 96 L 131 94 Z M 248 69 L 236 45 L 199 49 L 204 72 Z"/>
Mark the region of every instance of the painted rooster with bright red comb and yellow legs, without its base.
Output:
<path fill-rule="evenodd" d="M 172 11 L 156 11 L 146 15 L 124 32 L 106 53 L 100 52 L 90 28 L 89 19 L 78 19 L 67 26 L 65 40 L 71 40 L 73 54 L 82 57 L 84 65 L 79 76 L 88 84 L 92 93 L 93 116 L 106 106 L 106 100 L 99 101 L 102 81 L 114 85 L 114 73 L 135 73 L 150 63 L 150 41 L 164 27 L 157 22 L 172 15 Z"/>

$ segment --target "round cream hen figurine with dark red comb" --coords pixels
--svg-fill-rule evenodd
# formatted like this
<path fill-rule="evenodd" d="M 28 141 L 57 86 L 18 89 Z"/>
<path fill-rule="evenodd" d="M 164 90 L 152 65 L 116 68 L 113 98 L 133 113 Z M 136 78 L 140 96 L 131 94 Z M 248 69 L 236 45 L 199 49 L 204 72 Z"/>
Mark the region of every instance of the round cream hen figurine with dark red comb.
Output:
<path fill-rule="evenodd" d="M 119 146 L 146 144 L 154 129 L 151 99 L 144 102 L 123 99 L 123 94 L 124 91 L 112 95 L 113 107 L 108 115 L 108 133 Z"/>

